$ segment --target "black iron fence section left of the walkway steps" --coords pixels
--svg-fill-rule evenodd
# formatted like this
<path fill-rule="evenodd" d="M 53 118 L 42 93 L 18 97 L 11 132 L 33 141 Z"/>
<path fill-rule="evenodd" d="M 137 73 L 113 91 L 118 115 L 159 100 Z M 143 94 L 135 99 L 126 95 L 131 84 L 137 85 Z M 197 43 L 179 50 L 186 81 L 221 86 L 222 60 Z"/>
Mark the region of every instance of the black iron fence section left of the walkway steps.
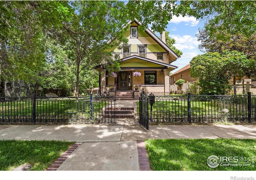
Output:
<path fill-rule="evenodd" d="M 0 124 L 116 123 L 115 97 L 0 97 Z"/>

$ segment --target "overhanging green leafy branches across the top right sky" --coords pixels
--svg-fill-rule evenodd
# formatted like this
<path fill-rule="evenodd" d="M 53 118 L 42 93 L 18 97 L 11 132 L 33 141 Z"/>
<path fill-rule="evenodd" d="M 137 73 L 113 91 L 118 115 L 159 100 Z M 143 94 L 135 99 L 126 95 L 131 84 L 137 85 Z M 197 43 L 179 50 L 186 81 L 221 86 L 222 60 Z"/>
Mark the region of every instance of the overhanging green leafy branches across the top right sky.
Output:
<path fill-rule="evenodd" d="M 210 36 L 227 30 L 230 34 L 256 33 L 256 1 L 129 1 L 128 13 L 144 26 L 162 32 L 173 16 L 204 20 Z"/>

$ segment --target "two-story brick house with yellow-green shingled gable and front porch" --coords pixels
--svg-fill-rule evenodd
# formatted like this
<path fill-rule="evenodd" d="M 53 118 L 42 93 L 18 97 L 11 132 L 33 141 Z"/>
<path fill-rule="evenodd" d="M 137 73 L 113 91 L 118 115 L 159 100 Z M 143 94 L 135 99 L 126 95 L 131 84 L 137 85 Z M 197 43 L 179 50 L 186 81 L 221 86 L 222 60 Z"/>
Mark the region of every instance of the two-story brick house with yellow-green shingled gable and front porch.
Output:
<path fill-rule="evenodd" d="M 130 29 L 124 34 L 128 44 L 113 51 L 120 55 L 121 71 L 115 74 L 96 67 L 100 72 L 100 91 L 115 85 L 117 92 L 133 92 L 136 86 L 139 92 L 143 88 L 146 93 L 169 95 L 169 73 L 177 68 L 171 63 L 178 55 L 166 45 L 165 32 L 160 39 L 148 28 L 140 31 L 141 23 L 137 20 L 129 24 Z"/>

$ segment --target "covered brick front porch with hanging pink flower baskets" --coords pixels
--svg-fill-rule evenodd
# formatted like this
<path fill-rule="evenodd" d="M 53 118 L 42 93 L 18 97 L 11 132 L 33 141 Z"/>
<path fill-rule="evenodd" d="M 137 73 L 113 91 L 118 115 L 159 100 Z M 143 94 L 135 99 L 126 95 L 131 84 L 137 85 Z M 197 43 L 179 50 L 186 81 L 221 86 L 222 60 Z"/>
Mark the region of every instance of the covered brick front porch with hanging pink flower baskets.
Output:
<path fill-rule="evenodd" d="M 116 73 L 98 69 L 101 92 L 132 91 L 136 97 L 135 94 L 144 89 L 148 94 L 170 94 L 169 73 L 176 69 L 176 66 L 133 55 L 121 59 L 120 68 L 121 71 Z"/>

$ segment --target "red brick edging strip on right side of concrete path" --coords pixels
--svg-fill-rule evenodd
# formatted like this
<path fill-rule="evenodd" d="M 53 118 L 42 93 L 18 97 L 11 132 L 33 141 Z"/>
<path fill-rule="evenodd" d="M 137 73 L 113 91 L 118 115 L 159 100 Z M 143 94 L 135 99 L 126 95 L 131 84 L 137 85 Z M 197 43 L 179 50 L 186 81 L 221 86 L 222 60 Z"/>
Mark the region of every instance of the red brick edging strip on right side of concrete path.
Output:
<path fill-rule="evenodd" d="M 151 170 L 148 160 L 148 153 L 146 151 L 145 143 L 143 140 L 137 141 L 137 149 L 139 155 L 139 166 L 141 171 Z"/>

